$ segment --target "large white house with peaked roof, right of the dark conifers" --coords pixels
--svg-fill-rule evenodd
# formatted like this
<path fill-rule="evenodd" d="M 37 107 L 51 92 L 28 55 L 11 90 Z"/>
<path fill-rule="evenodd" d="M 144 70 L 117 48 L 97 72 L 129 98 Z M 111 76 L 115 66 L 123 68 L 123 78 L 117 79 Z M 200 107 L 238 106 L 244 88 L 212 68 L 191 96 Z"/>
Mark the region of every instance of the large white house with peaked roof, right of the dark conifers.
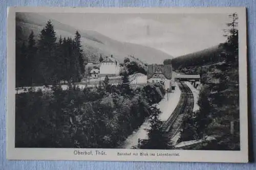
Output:
<path fill-rule="evenodd" d="M 120 65 L 119 61 L 111 55 L 111 57 L 106 56 L 104 60 L 100 63 L 99 68 L 99 77 L 108 77 L 119 76 Z"/>

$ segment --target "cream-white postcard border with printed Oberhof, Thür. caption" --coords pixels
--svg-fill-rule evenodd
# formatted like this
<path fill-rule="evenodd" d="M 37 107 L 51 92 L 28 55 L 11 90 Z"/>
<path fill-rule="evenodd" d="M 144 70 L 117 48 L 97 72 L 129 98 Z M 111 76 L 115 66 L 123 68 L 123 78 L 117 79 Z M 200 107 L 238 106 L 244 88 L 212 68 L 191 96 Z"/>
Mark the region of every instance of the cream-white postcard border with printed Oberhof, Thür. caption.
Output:
<path fill-rule="evenodd" d="M 127 150 L 127 149 L 49 149 L 15 148 L 15 12 L 37 13 L 233 13 L 239 16 L 239 90 L 240 90 L 240 151 L 196 150 Z M 7 23 L 7 159 L 22 160 L 105 160 L 105 161 L 180 161 L 180 162 L 248 162 L 248 104 L 247 104 L 247 45 L 246 9 L 228 8 L 50 8 L 11 7 Z M 75 152 L 93 155 L 75 155 Z M 99 151 L 103 155 L 96 155 Z M 104 155 L 105 152 L 105 155 Z M 130 156 L 118 156 L 131 153 Z M 138 156 L 133 155 L 138 153 Z M 140 156 L 147 153 L 148 156 Z M 150 154 L 155 156 L 150 156 Z M 157 156 L 168 153 L 172 156 Z"/>

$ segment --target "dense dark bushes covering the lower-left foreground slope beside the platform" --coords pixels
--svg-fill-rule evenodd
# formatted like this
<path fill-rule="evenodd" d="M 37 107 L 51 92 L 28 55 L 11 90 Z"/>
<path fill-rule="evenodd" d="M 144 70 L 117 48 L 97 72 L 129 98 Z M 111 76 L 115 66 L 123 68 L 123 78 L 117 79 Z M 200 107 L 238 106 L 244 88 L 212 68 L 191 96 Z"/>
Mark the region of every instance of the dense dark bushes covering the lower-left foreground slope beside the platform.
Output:
<path fill-rule="evenodd" d="M 16 94 L 15 147 L 117 148 L 164 95 L 161 85 L 131 89 L 123 81 Z"/>

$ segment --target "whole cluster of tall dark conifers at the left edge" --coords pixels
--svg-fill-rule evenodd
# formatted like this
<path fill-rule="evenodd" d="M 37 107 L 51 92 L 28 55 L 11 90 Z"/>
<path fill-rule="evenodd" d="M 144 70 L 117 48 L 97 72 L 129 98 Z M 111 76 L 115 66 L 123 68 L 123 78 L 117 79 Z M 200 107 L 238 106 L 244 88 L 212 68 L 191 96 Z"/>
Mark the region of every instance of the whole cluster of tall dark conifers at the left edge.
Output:
<path fill-rule="evenodd" d="M 79 82 L 84 74 L 81 35 L 56 37 L 49 20 L 35 40 L 31 31 L 27 40 L 16 28 L 16 87 Z"/>

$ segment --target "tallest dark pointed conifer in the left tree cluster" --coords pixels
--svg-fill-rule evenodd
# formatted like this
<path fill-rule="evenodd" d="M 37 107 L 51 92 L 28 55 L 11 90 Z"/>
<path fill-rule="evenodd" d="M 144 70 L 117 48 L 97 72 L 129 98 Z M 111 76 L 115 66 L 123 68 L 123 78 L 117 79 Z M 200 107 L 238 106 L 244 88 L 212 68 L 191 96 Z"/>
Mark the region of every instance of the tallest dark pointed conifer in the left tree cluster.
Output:
<path fill-rule="evenodd" d="M 56 83 L 56 36 L 55 30 L 49 20 L 46 27 L 41 30 L 38 40 L 39 70 L 45 84 Z"/>

